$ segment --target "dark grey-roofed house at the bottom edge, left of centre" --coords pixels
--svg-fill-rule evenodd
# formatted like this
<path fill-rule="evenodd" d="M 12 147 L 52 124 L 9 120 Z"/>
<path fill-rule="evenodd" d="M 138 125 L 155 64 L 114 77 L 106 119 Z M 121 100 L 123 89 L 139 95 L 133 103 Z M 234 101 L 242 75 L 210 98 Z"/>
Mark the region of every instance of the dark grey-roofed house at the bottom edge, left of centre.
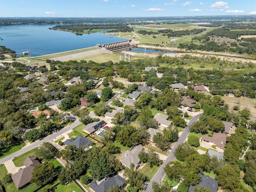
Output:
<path fill-rule="evenodd" d="M 93 192 L 104 192 L 107 191 L 109 188 L 118 185 L 118 188 L 121 189 L 125 184 L 125 180 L 120 177 L 119 175 L 108 177 L 106 179 L 102 179 L 100 181 L 93 181 L 89 184 L 90 191 Z"/>

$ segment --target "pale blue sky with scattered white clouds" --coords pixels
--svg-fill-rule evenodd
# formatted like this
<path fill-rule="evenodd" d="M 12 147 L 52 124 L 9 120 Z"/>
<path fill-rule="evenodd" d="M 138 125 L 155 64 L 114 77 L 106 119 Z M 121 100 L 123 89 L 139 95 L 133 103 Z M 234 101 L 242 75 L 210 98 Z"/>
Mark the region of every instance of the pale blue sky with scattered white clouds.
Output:
<path fill-rule="evenodd" d="M 256 0 L 0 0 L 0 17 L 255 15 Z"/>

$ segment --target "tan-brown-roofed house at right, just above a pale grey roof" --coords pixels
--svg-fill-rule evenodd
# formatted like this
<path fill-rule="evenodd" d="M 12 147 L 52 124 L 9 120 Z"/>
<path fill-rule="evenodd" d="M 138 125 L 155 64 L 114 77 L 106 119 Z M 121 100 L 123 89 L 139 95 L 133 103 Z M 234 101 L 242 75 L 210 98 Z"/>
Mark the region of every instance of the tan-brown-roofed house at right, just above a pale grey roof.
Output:
<path fill-rule="evenodd" d="M 223 133 L 214 133 L 212 137 L 202 136 L 202 141 L 208 142 L 211 145 L 215 145 L 216 148 L 225 149 L 227 134 Z"/>

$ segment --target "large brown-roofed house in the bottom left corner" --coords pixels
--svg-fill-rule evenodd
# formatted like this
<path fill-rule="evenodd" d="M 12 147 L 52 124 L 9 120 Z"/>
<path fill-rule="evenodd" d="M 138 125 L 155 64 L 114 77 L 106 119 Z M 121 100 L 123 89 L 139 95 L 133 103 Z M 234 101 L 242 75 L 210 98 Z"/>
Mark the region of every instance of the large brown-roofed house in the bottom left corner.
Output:
<path fill-rule="evenodd" d="M 35 156 L 28 156 L 23 162 L 25 168 L 19 169 L 18 172 L 12 174 L 12 180 L 18 190 L 30 184 L 33 169 L 36 165 L 39 164 L 40 162 L 36 159 Z"/>

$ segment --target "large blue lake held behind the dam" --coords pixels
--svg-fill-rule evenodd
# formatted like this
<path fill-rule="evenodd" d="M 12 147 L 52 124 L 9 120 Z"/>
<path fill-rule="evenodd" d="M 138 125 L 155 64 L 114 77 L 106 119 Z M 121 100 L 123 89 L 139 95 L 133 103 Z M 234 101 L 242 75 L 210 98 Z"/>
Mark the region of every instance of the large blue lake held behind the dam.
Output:
<path fill-rule="evenodd" d="M 48 29 L 53 26 L 55 24 L 0 26 L 0 37 L 4 39 L 0 45 L 15 50 L 18 55 L 29 48 L 31 56 L 40 56 L 126 40 L 100 32 L 78 36 Z"/>

